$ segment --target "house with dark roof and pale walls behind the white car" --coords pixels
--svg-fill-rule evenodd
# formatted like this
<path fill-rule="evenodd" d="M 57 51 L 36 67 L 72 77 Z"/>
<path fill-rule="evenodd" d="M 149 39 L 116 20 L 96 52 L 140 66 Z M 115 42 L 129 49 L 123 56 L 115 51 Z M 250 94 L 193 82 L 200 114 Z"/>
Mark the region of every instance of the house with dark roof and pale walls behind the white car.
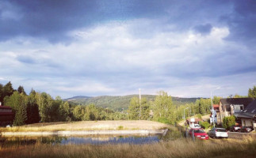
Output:
<path fill-rule="evenodd" d="M 235 115 L 237 117 L 249 103 L 253 101 L 252 98 L 225 98 L 220 99 L 219 113 L 217 113 L 217 124 L 222 124 L 224 117 Z M 241 120 L 236 120 L 237 124 L 241 124 Z"/>

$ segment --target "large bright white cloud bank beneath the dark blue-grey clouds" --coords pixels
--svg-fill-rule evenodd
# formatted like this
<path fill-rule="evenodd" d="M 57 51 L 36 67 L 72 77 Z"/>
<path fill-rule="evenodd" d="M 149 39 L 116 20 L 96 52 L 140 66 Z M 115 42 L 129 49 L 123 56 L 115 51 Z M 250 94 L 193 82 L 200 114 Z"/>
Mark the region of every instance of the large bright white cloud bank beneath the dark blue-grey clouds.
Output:
<path fill-rule="evenodd" d="M 226 52 L 250 52 L 224 40 L 229 35 L 226 27 L 213 27 L 208 36 L 170 31 L 141 37 L 134 35 L 136 30 L 131 32 L 139 19 L 135 21 L 72 31 L 69 36 L 75 36 L 75 42 L 67 45 L 29 38 L 24 43 L 22 38 L 0 43 L 0 73 L 16 85 L 53 96 L 117 95 L 143 88 L 147 94 L 166 90 L 172 96 L 207 97 L 209 89 L 232 80 L 232 75 L 225 73 L 236 66 L 221 67 L 230 63 L 221 60 Z M 151 27 L 151 22 L 145 21 L 139 29 Z M 216 55 L 216 63 L 212 55 Z M 251 62 L 255 57 L 245 59 Z M 227 78 L 222 83 L 223 77 L 212 73 Z M 245 82 L 252 80 L 253 74 L 247 75 Z M 234 85 L 239 79 L 232 81 Z"/>

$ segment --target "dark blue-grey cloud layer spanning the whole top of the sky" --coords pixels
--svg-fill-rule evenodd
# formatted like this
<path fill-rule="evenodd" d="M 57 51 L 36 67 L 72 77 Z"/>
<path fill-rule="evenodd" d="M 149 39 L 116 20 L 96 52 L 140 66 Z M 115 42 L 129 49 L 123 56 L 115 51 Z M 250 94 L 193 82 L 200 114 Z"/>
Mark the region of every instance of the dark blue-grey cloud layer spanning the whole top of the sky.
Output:
<path fill-rule="evenodd" d="M 3 1 L 2 4 L 6 5 L 0 8 L 0 40 L 32 36 L 52 43 L 68 42 L 72 40 L 68 32 L 75 29 L 91 27 L 105 21 L 126 21 L 134 18 L 158 20 L 154 21 L 154 24 L 148 24 L 147 28 L 134 28 L 138 36 L 146 38 L 152 33 L 183 31 L 190 28 L 207 35 L 212 26 L 225 24 L 231 31 L 227 40 L 249 40 L 250 43 L 254 43 L 256 36 L 256 2 L 252 0 L 12 0 Z M 3 18 L 6 15 L 7 17 Z M 174 27 L 166 27 L 170 24 Z"/>

